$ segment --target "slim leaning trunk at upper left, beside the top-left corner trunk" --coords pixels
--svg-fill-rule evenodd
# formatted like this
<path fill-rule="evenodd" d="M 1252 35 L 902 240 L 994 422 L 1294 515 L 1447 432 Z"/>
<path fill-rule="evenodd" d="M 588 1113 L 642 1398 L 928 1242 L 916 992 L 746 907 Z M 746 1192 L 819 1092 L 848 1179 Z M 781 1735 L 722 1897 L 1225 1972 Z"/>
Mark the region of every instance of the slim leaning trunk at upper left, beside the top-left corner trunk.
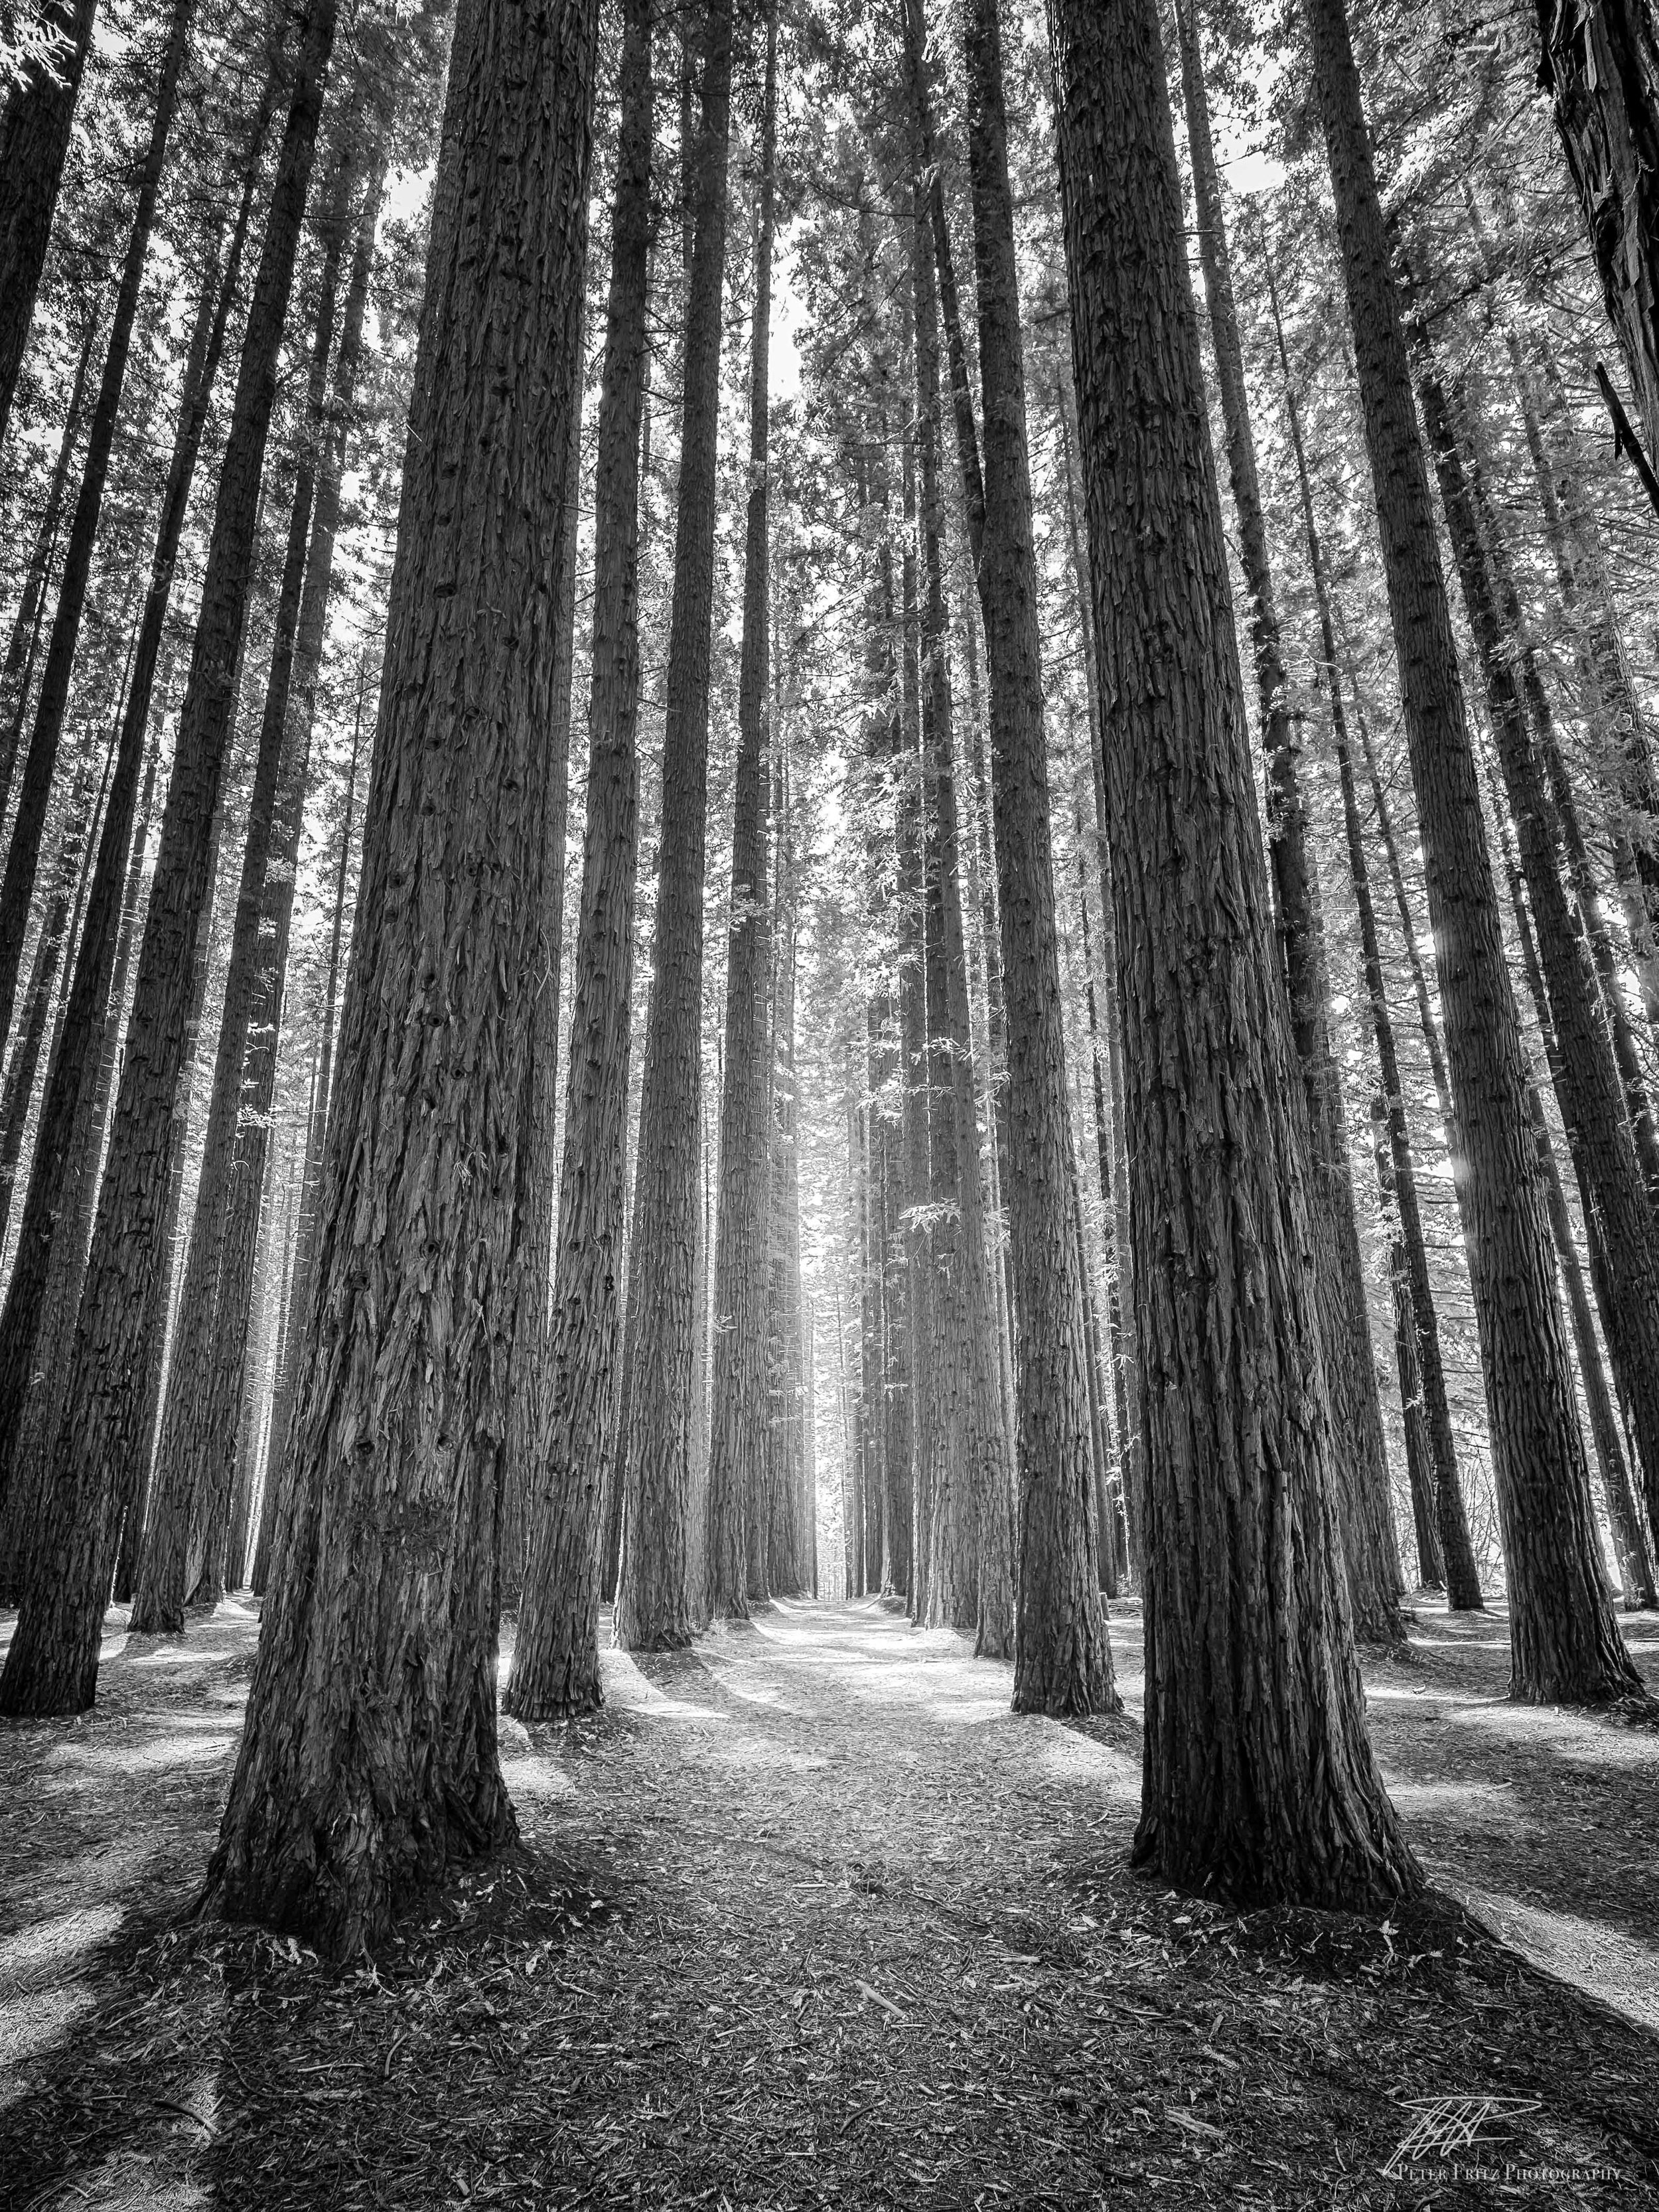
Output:
<path fill-rule="evenodd" d="M 22 763 L 18 814 L 11 825 L 4 878 L 0 878 L 0 1035 L 4 1035 L 11 1026 L 11 1002 L 18 989 L 18 960 L 22 958 L 22 940 L 29 929 L 29 902 L 33 898 L 35 865 L 40 860 L 40 834 L 46 823 L 53 768 L 58 763 L 58 745 L 64 732 L 64 714 L 69 712 L 69 684 L 75 670 L 82 613 L 86 611 L 86 584 L 93 573 L 93 540 L 97 538 L 97 518 L 104 507 L 111 451 L 115 449 L 115 416 L 122 405 L 126 361 L 133 349 L 133 323 L 137 319 L 139 285 L 144 281 L 144 259 L 150 246 L 150 230 L 155 228 L 161 164 L 166 159 L 168 131 L 173 126 L 173 108 L 177 104 L 179 73 L 190 42 L 192 15 L 195 0 L 175 0 L 168 42 L 155 86 L 150 142 L 137 173 L 133 226 L 126 237 L 126 259 L 122 261 L 122 281 L 115 292 L 115 310 L 111 314 L 111 334 L 104 352 L 104 369 L 97 383 L 97 400 L 93 403 L 86 458 L 82 462 L 80 491 L 75 495 L 75 515 L 69 524 L 64 571 L 58 580 L 58 606 L 51 619 L 46 666 L 40 677 L 35 726 L 29 737 L 29 754 Z M 7 115 L 7 133 L 0 135 L 9 135 L 9 124 L 11 115 Z M 4 161 L 4 155 L 0 155 L 0 161 Z M 2 204 L 0 239 L 4 239 Z M 4 246 L 0 246 L 0 252 L 4 252 Z M 7 279 L 0 274 L 0 296 L 4 294 Z M 0 310 L 0 403 L 9 398 L 11 389 L 4 380 L 4 310 Z M 0 436 L 4 436 L 2 418 Z"/>

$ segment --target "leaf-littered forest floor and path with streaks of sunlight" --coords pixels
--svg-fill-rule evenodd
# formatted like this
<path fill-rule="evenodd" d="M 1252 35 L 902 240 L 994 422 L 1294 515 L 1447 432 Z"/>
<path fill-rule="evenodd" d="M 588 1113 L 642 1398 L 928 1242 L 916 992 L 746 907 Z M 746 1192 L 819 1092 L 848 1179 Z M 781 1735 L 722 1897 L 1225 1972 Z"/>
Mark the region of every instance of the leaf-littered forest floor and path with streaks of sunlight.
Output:
<path fill-rule="evenodd" d="M 1135 1606 L 1126 1714 L 1055 1723 L 869 1599 L 504 1723 L 524 1854 L 372 1971 L 179 1920 L 252 1606 L 108 1630 L 0 1732 L 7 2212 L 1659 2203 L 1659 1734 L 1509 1705 L 1502 1613 L 1367 1661 L 1436 1882 L 1387 1922 L 1130 1874 Z"/>

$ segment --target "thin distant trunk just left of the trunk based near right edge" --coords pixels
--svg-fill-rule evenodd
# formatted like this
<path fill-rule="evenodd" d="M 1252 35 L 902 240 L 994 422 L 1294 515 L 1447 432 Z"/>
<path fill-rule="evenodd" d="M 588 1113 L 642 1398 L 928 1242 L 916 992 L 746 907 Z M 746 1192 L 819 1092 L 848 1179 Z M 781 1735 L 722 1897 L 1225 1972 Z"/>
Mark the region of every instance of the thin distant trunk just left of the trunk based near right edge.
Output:
<path fill-rule="evenodd" d="M 1436 1584 L 1444 1582 L 1447 1604 L 1455 1610 L 1478 1610 L 1480 1597 L 1480 1571 L 1475 1566 L 1475 1551 L 1469 1542 L 1469 1517 L 1462 1502 L 1462 1484 L 1458 1482 L 1458 1442 L 1451 1429 L 1451 1405 L 1447 1400 L 1447 1376 L 1440 1358 L 1440 1323 L 1433 1307 L 1433 1287 L 1429 1283 L 1429 1252 L 1422 1234 L 1422 1210 L 1418 1206 L 1418 1172 L 1411 1157 L 1411 1130 L 1405 1117 L 1405 1086 L 1400 1082 L 1400 1060 L 1394 1044 L 1394 1015 L 1389 1013 L 1387 987 L 1383 980 L 1383 947 L 1376 929 L 1376 907 L 1371 905 L 1371 869 L 1365 858 L 1365 832 L 1360 825 L 1360 803 L 1358 787 L 1354 781 L 1354 754 L 1347 741 L 1347 710 L 1343 706 L 1343 684 L 1336 668 L 1336 630 L 1332 622 L 1332 597 L 1329 582 L 1325 577 L 1325 549 L 1321 544 L 1318 524 L 1314 522 L 1314 493 L 1307 480 L 1307 453 L 1303 449 L 1303 427 L 1301 409 L 1296 407 L 1296 392 L 1290 380 L 1290 356 L 1285 352 L 1285 332 L 1279 319 L 1279 288 L 1274 283 L 1272 268 L 1267 270 L 1267 294 L 1274 316 L 1274 336 L 1279 341 L 1279 367 L 1285 378 L 1285 411 L 1290 418 L 1290 447 L 1296 458 L 1296 489 L 1303 509 L 1303 531 L 1307 535 L 1307 564 L 1314 575 L 1314 599 L 1318 604 L 1318 635 L 1325 657 L 1325 688 L 1332 703 L 1332 750 L 1336 752 L 1336 772 L 1343 787 L 1343 825 L 1347 832 L 1347 865 L 1354 883 L 1354 905 L 1360 920 L 1360 978 L 1365 982 L 1365 998 L 1371 1009 L 1371 1035 L 1376 1040 L 1378 1073 L 1383 1077 L 1383 1110 L 1389 1141 L 1389 1168 L 1385 1197 L 1394 1201 L 1400 1214 L 1400 1252 L 1405 1265 L 1405 1296 L 1411 1314 L 1413 1343 L 1402 1356 L 1400 1367 L 1400 1398 L 1407 1400 L 1407 1371 L 1422 1385 L 1422 1427 L 1427 1431 L 1429 1462 L 1433 1469 L 1433 1502 L 1436 1502 L 1436 1542 L 1425 1546 L 1422 1535 L 1418 1535 L 1418 1555 L 1427 1548 L 1429 1562 L 1438 1562 L 1440 1573 L 1436 1573 Z M 1369 757 L 1369 752 L 1367 752 Z M 1383 803 L 1383 785 L 1376 781 L 1376 763 L 1371 763 L 1374 774 L 1374 796 L 1378 805 L 1378 821 L 1383 827 L 1389 856 L 1396 867 L 1396 889 L 1400 900 L 1405 900 L 1405 883 L 1398 878 L 1398 852 L 1394 847 L 1394 832 L 1387 821 L 1387 810 Z M 1416 940 L 1409 933 L 1409 909 L 1402 907 L 1407 920 L 1407 940 L 1411 951 L 1411 962 L 1418 973 L 1418 991 L 1422 998 L 1422 1009 L 1427 1015 L 1427 989 L 1422 984 L 1422 969 L 1416 964 Z M 1433 1024 L 1431 1024 L 1433 1026 Z M 1451 1110 L 1451 1102 L 1442 1099 L 1442 1113 Z M 1396 1292 L 1398 1310 L 1398 1292 Z M 1407 1416 L 1409 1418 L 1409 1416 Z M 1416 1493 L 1413 1493 L 1416 1498 Z M 1427 1579 L 1427 1568 L 1425 1568 Z"/>

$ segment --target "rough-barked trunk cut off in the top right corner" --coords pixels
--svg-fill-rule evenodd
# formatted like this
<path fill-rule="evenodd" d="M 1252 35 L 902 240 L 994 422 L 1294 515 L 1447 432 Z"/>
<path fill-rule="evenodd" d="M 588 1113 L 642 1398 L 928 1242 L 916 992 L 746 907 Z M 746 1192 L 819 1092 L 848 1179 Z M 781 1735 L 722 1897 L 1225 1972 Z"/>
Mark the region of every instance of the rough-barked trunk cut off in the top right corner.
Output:
<path fill-rule="evenodd" d="M 1659 456 L 1659 38 L 1644 0 L 1566 9 L 1535 0 L 1540 82 L 1577 186 L 1584 228 Z"/>

